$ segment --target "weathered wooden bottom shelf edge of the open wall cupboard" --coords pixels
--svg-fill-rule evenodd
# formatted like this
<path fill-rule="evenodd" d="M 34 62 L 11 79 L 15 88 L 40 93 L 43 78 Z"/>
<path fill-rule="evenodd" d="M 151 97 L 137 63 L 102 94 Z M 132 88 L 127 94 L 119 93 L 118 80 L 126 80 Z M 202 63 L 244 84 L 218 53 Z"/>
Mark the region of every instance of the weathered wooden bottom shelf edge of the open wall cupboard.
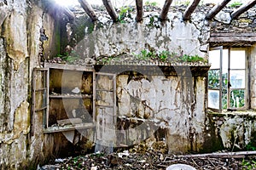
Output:
<path fill-rule="evenodd" d="M 62 127 L 61 126 L 47 127 L 47 128 L 44 128 L 44 133 L 59 133 L 59 132 L 67 132 L 67 131 L 73 131 L 73 130 L 79 130 L 79 129 L 94 128 L 94 127 L 96 127 L 96 125 L 93 122 L 87 122 L 87 123 L 66 125 Z"/>

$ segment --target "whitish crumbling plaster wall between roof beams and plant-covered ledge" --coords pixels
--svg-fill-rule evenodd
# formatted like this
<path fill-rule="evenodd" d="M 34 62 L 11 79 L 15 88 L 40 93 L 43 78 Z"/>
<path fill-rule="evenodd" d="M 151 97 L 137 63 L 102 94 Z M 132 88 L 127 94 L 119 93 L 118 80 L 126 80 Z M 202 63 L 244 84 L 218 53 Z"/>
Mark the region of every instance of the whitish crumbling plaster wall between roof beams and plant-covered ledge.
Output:
<path fill-rule="evenodd" d="M 102 14 L 96 23 L 96 30 L 85 27 L 85 37 L 74 48 L 85 58 L 139 54 L 142 49 L 176 52 L 177 54 L 199 54 L 207 59 L 207 40 L 210 26 L 204 20 L 205 14 L 197 12 L 192 20 L 184 21 L 183 13 L 169 13 L 166 22 L 160 22 L 156 12 L 145 13 L 142 23 L 137 23 L 131 14 L 125 23 L 112 23 Z M 195 17 L 196 16 L 196 17 Z M 73 37 L 75 32 L 73 32 Z"/>

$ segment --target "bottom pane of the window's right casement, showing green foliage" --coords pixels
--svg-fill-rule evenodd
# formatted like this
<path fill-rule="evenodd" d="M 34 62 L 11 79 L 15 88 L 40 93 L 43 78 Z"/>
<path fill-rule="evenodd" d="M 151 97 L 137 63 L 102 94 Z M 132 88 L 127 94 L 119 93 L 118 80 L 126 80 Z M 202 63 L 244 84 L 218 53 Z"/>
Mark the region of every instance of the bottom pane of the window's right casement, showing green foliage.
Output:
<path fill-rule="evenodd" d="M 230 92 L 230 107 L 240 108 L 244 106 L 245 90 L 231 90 Z"/>

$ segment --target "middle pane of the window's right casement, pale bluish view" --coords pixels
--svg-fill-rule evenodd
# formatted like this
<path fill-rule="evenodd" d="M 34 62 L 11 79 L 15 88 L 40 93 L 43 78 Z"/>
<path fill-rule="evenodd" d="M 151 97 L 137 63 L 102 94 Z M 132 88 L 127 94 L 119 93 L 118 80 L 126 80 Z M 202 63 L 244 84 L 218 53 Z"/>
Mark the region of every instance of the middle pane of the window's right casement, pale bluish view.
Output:
<path fill-rule="evenodd" d="M 231 88 L 245 88 L 245 71 L 230 71 Z"/>

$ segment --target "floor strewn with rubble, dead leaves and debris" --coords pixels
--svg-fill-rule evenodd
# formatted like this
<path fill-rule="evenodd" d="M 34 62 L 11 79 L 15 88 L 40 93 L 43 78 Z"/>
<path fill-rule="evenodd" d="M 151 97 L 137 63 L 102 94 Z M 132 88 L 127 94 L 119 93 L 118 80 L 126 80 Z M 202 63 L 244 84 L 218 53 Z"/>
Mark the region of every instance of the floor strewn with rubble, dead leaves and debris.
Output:
<path fill-rule="evenodd" d="M 49 169 L 166 169 L 172 164 L 182 163 L 195 169 L 256 169 L 256 155 L 229 155 L 221 152 L 218 155 L 167 154 L 165 144 L 138 144 L 129 150 L 115 150 L 111 154 L 97 152 L 82 156 L 58 158 L 49 161 L 48 165 L 38 166 L 40 170 Z M 244 153 L 244 152 L 242 152 Z M 254 152 L 253 152 L 254 153 Z"/>

